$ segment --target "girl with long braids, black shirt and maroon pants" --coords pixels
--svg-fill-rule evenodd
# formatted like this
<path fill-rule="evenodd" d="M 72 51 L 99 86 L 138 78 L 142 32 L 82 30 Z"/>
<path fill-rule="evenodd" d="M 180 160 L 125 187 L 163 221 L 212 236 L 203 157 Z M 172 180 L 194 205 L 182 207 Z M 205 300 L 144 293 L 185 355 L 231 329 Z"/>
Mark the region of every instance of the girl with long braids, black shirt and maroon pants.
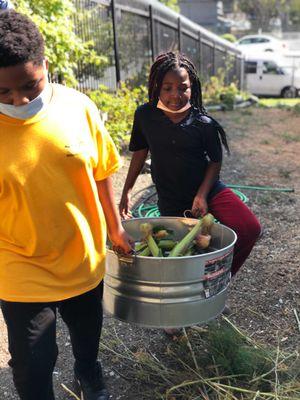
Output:
<path fill-rule="evenodd" d="M 238 240 L 232 274 L 250 254 L 261 231 L 249 208 L 220 180 L 222 145 L 226 134 L 207 116 L 197 71 L 184 55 L 167 52 L 157 57 L 149 77 L 149 102 L 138 107 L 129 149 L 132 160 L 120 201 L 128 218 L 130 193 L 148 152 L 161 215 L 195 217 L 211 212 L 233 229 Z"/>

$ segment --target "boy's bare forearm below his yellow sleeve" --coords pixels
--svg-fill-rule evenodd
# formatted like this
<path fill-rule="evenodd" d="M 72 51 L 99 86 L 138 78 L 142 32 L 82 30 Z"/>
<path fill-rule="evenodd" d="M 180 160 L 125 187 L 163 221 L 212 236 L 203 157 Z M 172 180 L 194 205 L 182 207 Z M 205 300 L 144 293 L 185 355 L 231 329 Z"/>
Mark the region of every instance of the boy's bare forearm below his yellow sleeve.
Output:
<path fill-rule="evenodd" d="M 99 200 L 105 215 L 108 234 L 113 235 L 122 228 L 122 224 L 115 203 L 112 180 L 108 177 L 102 181 L 97 181 L 96 185 Z"/>

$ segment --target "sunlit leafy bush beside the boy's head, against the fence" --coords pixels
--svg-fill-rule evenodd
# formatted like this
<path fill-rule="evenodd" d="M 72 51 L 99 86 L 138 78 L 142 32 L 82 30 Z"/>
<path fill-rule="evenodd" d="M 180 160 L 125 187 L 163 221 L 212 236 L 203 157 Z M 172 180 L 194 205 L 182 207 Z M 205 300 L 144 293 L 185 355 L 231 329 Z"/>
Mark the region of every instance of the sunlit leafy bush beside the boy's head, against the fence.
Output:
<path fill-rule="evenodd" d="M 77 10 L 72 0 L 15 0 L 16 10 L 28 15 L 38 26 L 45 39 L 45 54 L 49 60 L 49 73 L 60 82 L 76 86 L 78 60 L 82 66 L 103 68 L 107 58 L 97 54 L 92 40 L 76 34 L 77 21 L 84 13 Z"/>

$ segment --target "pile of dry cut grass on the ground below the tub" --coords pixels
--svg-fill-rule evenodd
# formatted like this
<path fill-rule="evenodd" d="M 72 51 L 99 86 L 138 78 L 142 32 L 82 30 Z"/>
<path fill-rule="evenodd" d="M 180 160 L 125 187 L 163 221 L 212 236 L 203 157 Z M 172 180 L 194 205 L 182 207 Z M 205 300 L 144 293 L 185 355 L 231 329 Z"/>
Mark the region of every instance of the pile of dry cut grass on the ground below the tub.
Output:
<path fill-rule="evenodd" d="M 279 342 L 279 341 L 278 341 Z M 184 330 L 158 356 L 108 334 L 102 352 L 116 372 L 143 388 L 143 399 L 299 400 L 297 351 L 263 346 L 229 319 Z"/>

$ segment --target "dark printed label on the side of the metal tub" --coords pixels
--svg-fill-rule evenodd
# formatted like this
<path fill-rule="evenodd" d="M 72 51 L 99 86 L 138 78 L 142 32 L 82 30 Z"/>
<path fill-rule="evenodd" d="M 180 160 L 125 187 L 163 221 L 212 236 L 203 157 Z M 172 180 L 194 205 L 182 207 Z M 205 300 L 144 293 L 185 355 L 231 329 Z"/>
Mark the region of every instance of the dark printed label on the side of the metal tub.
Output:
<path fill-rule="evenodd" d="M 205 263 L 203 289 L 205 297 L 209 298 L 221 292 L 231 279 L 232 250 L 221 257 Z"/>

